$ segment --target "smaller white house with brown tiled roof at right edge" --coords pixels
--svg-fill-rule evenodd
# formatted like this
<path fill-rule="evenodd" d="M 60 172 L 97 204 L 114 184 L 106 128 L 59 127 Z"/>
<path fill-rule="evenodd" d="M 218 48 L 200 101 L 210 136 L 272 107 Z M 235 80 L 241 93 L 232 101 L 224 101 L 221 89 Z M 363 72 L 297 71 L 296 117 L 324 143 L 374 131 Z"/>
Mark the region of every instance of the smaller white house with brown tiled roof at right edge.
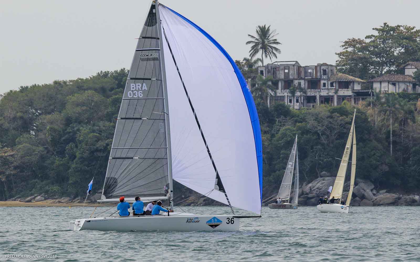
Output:
<path fill-rule="evenodd" d="M 404 68 L 404 75 L 388 74 L 369 80 L 373 82 L 373 89 L 382 93 L 419 93 L 420 87 L 413 76 L 420 62 L 407 62 L 400 68 Z"/>

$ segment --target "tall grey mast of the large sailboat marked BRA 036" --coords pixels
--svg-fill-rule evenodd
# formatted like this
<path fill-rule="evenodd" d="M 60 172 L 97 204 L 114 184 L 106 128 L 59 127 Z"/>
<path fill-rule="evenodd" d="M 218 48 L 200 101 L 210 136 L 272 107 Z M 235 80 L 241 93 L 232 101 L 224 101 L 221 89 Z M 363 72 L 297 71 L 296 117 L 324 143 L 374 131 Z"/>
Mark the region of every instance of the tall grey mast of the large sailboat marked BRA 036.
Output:
<path fill-rule="evenodd" d="M 160 73 L 162 76 L 162 88 L 163 88 L 163 110 L 165 115 L 165 135 L 166 135 L 166 144 L 168 147 L 167 156 L 168 156 L 168 183 L 169 183 L 169 205 L 171 210 L 173 210 L 173 181 L 172 181 L 172 153 L 171 153 L 171 133 L 169 130 L 169 103 L 168 103 L 168 89 L 166 86 L 166 72 L 165 72 L 165 63 L 163 55 L 163 36 L 160 26 L 160 14 L 159 14 L 159 1 L 155 0 L 155 10 L 156 10 L 156 26 L 157 34 L 159 36 L 159 64 L 160 64 Z"/>

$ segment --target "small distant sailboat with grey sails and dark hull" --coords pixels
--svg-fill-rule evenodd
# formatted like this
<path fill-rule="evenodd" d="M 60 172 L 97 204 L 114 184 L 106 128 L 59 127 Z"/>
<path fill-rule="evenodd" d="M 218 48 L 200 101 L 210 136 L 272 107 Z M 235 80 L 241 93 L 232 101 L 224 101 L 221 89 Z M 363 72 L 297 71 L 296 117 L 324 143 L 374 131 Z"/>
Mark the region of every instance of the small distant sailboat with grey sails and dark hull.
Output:
<path fill-rule="evenodd" d="M 296 159 L 296 161 L 295 161 Z M 293 179 L 293 170 L 296 163 L 296 174 L 294 176 L 293 198 L 290 202 L 291 184 Z M 297 200 L 299 197 L 299 159 L 297 156 L 297 135 L 294 140 L 293 148 L 291 149 L 289 162 L 284 172 L 283 180 L 281 181 L 280 189 L 278 189 L 277 200 L 284 201 L 283 203 L 271 203 L 268 205 L 271 209 L 297 209 Z M 276 201 L 277 201 L 276 200 Z"/>

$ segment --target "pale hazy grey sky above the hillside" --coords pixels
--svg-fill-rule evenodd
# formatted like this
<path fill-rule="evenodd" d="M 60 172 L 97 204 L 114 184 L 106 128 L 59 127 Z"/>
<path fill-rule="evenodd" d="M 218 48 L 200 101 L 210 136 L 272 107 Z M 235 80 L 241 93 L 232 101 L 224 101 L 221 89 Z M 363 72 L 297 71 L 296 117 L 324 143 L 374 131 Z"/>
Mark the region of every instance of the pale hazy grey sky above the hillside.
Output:
<path fill-rule="evenodd" d="M 383 22 L 420 28 L 420 1 L 161 0 L 246 57 L 257 25 L 279 33 L 277 60 L 335 64 L 340 42 Z M 0 0 L 0 93 L 129 68 L 149 0 Z M 267 61 L 267 60 L 265 60 Z M 274 60 L 273 60 L 274 62 Z"/>

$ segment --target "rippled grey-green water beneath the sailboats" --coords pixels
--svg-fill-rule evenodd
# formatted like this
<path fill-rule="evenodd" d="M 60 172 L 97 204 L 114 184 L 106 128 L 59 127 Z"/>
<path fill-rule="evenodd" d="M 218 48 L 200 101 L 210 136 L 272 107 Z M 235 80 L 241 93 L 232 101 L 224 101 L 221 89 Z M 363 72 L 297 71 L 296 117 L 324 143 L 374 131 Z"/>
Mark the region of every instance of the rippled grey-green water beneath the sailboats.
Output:
<path fill-rule="evenodd" d="M 97 208 L 95 213 L 106 209 Z M 319 213 L 315 207 L 264 207 L 262 218 L 237 232 L 67 230 L 69 220 L 89 217 L 92 210 L 0 208 L 0 261 L 420 261 L 419 207 L 355 207 L 347 215 Z M 226 211 L 222 207 L 189 210 Z M 253 219 L 243 219 L 241 225 Z M 6 254 L 57 258 L 7 259 Z"/>

